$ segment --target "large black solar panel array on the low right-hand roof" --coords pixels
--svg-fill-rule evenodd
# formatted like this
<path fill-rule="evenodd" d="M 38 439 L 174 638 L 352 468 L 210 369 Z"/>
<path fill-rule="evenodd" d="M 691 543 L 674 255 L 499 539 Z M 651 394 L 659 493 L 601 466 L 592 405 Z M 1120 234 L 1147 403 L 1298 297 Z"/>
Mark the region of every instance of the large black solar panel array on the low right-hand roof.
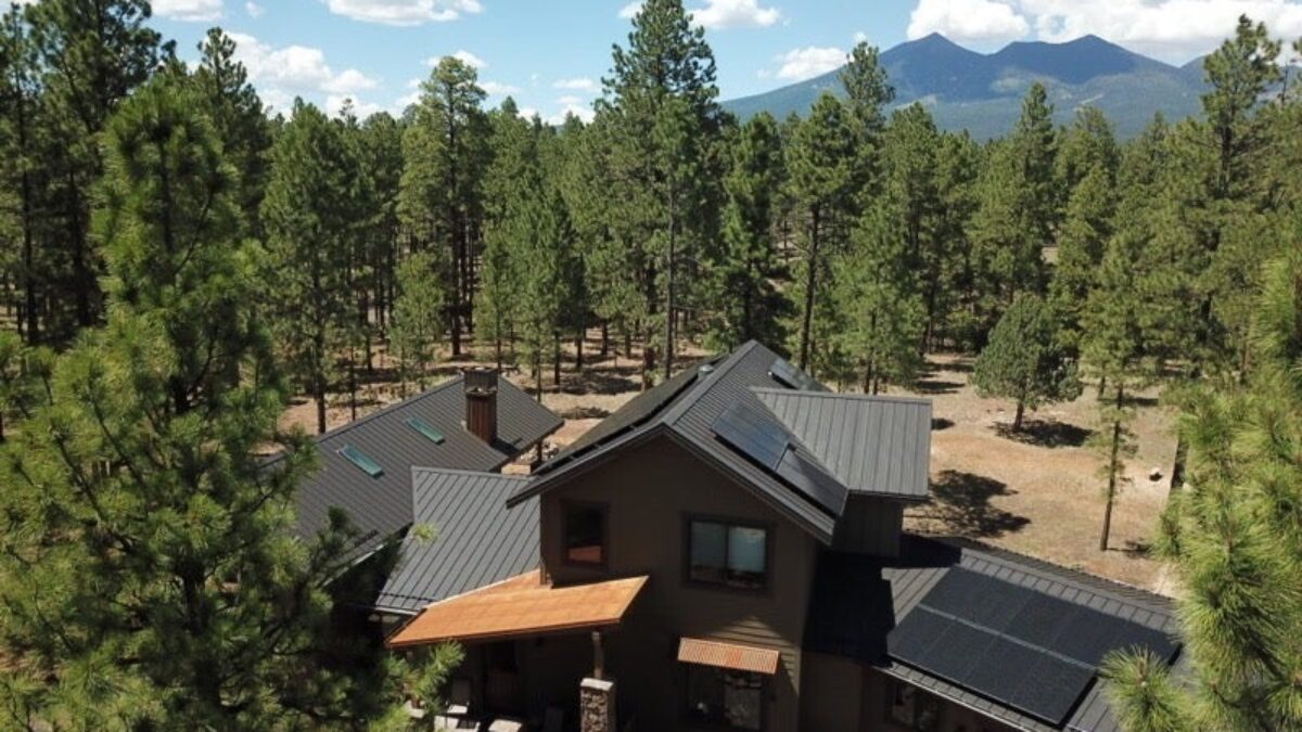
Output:
<path fill-rule="evenodd" d="M 1167 634 L 987 574 L 953 568 L 891 632 L 892 658 L 1053 725 L 1103 658 L 1141 647 L 1168 663 Z"/>

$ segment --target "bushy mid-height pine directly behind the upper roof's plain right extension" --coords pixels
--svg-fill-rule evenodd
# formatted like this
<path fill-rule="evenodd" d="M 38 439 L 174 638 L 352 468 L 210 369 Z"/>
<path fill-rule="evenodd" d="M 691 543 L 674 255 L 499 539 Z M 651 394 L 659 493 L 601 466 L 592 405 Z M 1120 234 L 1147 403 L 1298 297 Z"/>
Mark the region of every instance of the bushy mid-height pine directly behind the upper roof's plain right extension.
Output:
<path fill-rule="evenodd" d="M 922 366 L 918 344 L 926 311 L 909 259 L 905 216 L 888 203 L 868 210 L 849 249 L 835 258 L 833 301 L 842 330 L 833 336 L 837 356 L 853 365 L 865 393 L 883 384 L 907 384 Z M 841 363 L 833 361 L 833 374 Z M 840 373 L 842 380 L 852 374 Z M 844 378 L 849 376 L 849 378 Z"/>

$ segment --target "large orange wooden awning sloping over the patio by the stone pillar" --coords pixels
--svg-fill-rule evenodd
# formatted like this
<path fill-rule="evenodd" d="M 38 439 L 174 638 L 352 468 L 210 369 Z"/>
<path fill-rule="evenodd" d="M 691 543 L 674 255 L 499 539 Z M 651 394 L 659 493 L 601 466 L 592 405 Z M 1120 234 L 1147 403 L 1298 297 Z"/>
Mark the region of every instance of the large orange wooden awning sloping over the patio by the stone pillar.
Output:
<path fill-rule="evenodd" d="M 495 641 L 618 625 L 647 577 L 553 587 L 539 572 L 436 602 L 391 636 L 391 649 Z"/>

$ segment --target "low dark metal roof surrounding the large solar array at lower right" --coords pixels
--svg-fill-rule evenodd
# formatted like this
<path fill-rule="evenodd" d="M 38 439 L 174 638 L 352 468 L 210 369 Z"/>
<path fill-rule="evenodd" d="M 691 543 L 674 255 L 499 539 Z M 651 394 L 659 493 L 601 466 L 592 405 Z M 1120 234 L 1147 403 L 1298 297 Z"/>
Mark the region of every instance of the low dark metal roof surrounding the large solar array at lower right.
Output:
<path fill-rule="evenodd" d="M 815 572 L 805 647 L 874 663 L 884 673 L 1017 729 L 1059 729 L 887 658 L 885 638 L 889 630 L 907 617 L 953 567 L 988 574 L 1168 634 L 1178 632 L 1172 602 L 1160 595 L 973 542 L 905 534 L 900 557 L 894 560 L 824 552 Z M 889 598 L 889 603 L 884 598 Z M 1091 683 L 1061 729 L 1120 731 L 1098 680 Z"/>

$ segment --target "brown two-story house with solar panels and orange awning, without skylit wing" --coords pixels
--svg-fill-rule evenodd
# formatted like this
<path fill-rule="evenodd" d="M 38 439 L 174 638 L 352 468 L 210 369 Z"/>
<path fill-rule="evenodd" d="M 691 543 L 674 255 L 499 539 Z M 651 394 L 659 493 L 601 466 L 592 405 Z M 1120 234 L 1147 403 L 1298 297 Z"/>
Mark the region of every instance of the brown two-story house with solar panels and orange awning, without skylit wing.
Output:
<path fill-rule="evenodd" d="M 930 430 L 750 343 L 527 478 L 417 469 L 448 533 L 387 587 L 415 612 L 387 643 L 458 641 L 471 715 L 583 732 L 1116 729 L 1098 664 L 1174 660 L 1169 603 L 905 533 Z"/>

